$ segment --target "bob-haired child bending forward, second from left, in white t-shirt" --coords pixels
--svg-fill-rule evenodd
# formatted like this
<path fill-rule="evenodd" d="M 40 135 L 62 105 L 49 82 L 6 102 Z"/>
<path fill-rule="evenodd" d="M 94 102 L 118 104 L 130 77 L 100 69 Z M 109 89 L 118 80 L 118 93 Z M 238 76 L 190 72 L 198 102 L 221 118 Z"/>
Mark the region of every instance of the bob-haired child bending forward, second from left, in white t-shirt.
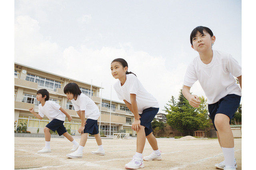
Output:
<path fill-rule="evenodd" d="M 92 154 L 105 155 L 105 150 L 102 146 L 102 140 L 98 131 L 98 118 L 100 117 L 100 111 L 97 105 L 84 95 L 79 86 L 76 83 L 68 83 L 64 87 L 64 93 L 68 100 L 70 100 L 74 106 L 74 109 L 81 119 L 81 126 L 78 128 L 78 132 L 82 134 L 80 145 L 75 152 L 67 154 L 68 158 L 82 158 L 83 149 L 86 144 L 88 133 L 94 135 L 98 144 L 98 150 L 92 151 Z M 87 118 L 85 122 L 85 118 Z"/>

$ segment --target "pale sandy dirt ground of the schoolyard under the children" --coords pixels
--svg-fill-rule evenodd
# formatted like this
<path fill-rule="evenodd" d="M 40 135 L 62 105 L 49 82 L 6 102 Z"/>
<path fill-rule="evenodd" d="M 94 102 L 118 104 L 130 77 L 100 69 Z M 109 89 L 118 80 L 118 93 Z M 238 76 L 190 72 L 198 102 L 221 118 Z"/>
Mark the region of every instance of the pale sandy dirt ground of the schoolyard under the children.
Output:
<path fill-rule="evenodd" d="M 80 136 L 74 137 L 80 142 Z M 214 165 L 224 160 L 217 139 L 174 139 L 157 138 L 162 160 L 144 161 L 144 170 L 216 170 Z M 242 139 L 235 138 L 235 158 L 237 170 L 242 169 Z M 44 147 L 44 138 L 14 137 L 14 168 L 15 169 L 50 169 L 50 170 L 124 170 L 136 152 L 136 138 L 114 140 L 102 138 L 106 151 L 104 156 L 93 155 L 97 150 L 94 137 L 88 138 L 83 157 L 67 158 L 71 153 L 72 143 L 66 138 L 51 138 L 52 152 L 38 154 Z M 152 148 L 148 141 L 143 156 L 151 154 Z"/>

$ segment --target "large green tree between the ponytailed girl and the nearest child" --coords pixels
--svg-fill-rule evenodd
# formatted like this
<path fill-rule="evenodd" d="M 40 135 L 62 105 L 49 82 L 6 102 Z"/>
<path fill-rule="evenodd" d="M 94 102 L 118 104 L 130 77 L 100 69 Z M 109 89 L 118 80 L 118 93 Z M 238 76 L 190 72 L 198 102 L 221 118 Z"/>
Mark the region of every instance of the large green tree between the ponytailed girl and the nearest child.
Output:
<path fill-rule="evenodd" d="M 169 104 L 166 104 L 165 112 L 167 123 L 179 130 L 184 135 L 192 135 L 194 130 L 210 128 L 210 120 L 208 119 L 208 109 L 206 99 L 200 97 L 200 107 L 194 108 L 188 100 L 182 95 L 178 97 L 178 102 L 172 96 Z"/>

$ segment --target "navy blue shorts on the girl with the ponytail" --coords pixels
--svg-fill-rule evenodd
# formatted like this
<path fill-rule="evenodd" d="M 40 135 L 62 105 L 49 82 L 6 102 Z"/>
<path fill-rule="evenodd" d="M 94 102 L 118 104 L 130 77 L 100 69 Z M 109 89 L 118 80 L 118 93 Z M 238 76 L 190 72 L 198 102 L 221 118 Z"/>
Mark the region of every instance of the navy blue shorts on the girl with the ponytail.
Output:
<path fill-rule="evenodd" d="M 145 127 L 145 134 L 148 136 L 153 130 L 151 126 L 151 122 L 155 118 L 156 114 L 158 113 L 159 108 L 150 107 L 147 109 L 144 109 L 142 111 L 142 114 L 140 115 L 140 125 Z"/>

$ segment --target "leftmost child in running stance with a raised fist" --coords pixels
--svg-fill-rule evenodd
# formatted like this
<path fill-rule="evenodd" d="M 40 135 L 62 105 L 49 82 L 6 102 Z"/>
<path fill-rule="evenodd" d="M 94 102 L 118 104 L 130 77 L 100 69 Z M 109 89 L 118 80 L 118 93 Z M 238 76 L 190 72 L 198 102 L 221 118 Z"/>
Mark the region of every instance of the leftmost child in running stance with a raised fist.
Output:
<path fill-rule="evenodd" d="M 29 111 L 36 116 L 38 119 L 42 120 L 44 115 L 50 119 L 50 123 L 44 127 L 44 136 L 45 136 L 45 147 L 42 150 L 38 150 L 38 153 L 47 153 L 51 152 L 50 148 L 50 139 L 51 134 L 50 130 L 58 132 L 59 136 L 63 134 L 70 142 L 74 144 L 71 151 L 75 151 L 79 144 L 74 140 L 74 138 L 67 132 L 64 127 L 64 121 L 66 116 L 68 121 L 72 120 L 72 117 L 54 101 L 49 101 L 49 92 L 46 89 L 40 89 L 36 93 L 36 100 L 40 102 L 38 106 L 38 114 L 35 113 L 34 108 L 30 107 Z"/>

